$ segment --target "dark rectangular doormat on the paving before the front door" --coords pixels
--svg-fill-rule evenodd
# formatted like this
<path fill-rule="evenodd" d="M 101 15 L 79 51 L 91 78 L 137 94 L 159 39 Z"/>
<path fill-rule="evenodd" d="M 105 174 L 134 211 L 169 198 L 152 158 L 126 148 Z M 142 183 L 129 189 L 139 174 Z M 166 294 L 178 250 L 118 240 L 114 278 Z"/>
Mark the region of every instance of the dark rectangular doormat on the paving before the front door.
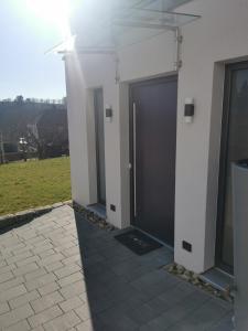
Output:
<path fill-rule="evenodd" d="M 138 229 L 119 234 L 115 238 L 137 255 L 144 255 L 163 246 Z"/>

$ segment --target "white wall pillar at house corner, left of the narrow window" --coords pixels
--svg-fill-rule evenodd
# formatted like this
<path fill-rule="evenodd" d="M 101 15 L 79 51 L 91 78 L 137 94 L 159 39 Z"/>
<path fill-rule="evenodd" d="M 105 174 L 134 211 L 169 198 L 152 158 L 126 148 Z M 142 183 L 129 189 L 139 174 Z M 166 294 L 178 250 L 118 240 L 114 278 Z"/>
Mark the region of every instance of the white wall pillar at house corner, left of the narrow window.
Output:
<path fill-rule="evenodd" d="M 71 153 L 71 178 L 73 200 L 82 205 L 89 204 L 89 164 L 86 119 L 86 87 L 80 64 L 75 56 L 65 58 L 65 75 L 68 108 L 68 135 Z M 87 156 L 87 157 L 86 157 Z"/>

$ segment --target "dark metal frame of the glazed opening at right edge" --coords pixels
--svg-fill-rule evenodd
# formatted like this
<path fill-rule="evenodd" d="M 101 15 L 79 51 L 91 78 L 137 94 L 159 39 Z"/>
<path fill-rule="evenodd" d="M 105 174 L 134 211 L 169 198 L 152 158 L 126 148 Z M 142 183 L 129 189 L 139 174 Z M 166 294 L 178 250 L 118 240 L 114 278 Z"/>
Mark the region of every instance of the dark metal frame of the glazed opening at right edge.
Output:
<path fill-rule="evenodd" d="M 229 116 L 231 100 L 231 76 L 235 71 L 248 70 L 248 62 L 239 62 L 227 64 L 225 68 L 225 88 L 223 100 L 223 119 L 222 119 L 222 139 L 219 152 L 219 174 L 218 174 L 218 196 L 217 196 L 217 224 L 216 224 L 216 249 L 215 264 L 224 271 L 234 275 L 234 267 L 226 265 L 223 259 L 224 244 L 224 209 L 226 197 L 226 173 L 227 173 L 227 152 L 228 152 L 228 135 L 229 135 Z"/>

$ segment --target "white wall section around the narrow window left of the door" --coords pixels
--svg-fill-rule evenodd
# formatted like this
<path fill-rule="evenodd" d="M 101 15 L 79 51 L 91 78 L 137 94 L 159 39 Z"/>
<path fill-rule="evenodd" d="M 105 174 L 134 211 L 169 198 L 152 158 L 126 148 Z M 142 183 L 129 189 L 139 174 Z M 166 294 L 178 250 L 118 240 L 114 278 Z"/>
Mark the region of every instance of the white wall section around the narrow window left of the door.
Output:
<path fill-rule="evenodd" d="M 97 202 L 94 88 L 104 90 L 104 105 L 112 108 L 105 121 L 106 202 L 108 221 L 121 227 L 119 85 L 114 55 L 65 56 L 73 199 L 86 206 Z M 110 211 L 110 204 L 116 212 Z"/>

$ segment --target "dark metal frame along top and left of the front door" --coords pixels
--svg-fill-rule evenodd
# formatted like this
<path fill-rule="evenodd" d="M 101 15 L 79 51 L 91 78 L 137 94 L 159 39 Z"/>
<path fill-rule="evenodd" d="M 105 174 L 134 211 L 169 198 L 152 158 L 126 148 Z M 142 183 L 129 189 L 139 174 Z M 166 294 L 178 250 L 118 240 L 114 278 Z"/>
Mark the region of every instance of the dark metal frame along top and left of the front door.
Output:
<path fill-rule="evenodd" d="M 152 86 L 160 83 L 170 83 L 179 81 L 179 75 L 173 74 L 159 78 L 145 79 L 129 85 L 129 163 L 130 163 L 130 224 L 136 226 L 134 217 L 134 169 L 133 169 L 133 88 L 139 86 Z"/>

